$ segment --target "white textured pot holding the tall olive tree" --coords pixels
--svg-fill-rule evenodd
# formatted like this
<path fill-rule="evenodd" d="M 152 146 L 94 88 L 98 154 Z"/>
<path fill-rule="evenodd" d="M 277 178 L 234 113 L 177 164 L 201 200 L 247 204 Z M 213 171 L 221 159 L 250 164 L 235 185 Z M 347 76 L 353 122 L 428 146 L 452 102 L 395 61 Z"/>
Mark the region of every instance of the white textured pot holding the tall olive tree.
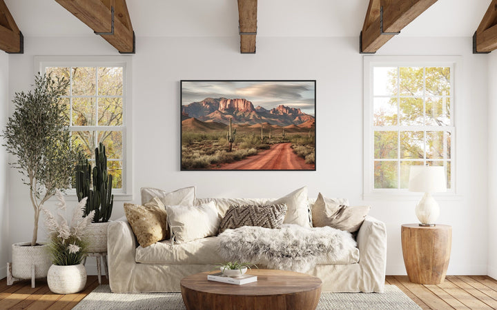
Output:
<path fill-rule="evenodd" d="M 35 278 L 46 278 L 52 265 L 52 258 L 46 243 L 31 246 L 30 242 L 12 245 L 12 276 L 19 279 L 31 278 L 31 265 L 35 265 Z"/>

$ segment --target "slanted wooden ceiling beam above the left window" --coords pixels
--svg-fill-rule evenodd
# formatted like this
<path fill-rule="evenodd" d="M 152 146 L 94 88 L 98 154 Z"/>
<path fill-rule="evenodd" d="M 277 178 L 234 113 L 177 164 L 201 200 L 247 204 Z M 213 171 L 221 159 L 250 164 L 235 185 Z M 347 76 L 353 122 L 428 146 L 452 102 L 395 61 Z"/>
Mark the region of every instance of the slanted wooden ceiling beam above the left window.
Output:
<path fill-rule="evenodd" d="M 55 0 L 121 54 L 135 54 L 135 32 L 126 0 Z"/>

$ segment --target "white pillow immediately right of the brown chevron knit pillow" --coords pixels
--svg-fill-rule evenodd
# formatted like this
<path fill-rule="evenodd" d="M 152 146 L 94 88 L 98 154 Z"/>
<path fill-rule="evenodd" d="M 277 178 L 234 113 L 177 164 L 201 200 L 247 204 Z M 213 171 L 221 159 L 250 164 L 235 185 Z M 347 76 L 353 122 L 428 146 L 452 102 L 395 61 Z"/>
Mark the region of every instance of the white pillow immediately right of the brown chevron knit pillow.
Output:
<path fill-rule="evenodd" d="M 307 187 L 291 192 L 290 194 L 274 200 L 271 205 L 286 204 L 286 216 L 284 224 L 297 224 L 302 227 L 311 227 L 309 220 L 309 208 L 307 206 Z"/>

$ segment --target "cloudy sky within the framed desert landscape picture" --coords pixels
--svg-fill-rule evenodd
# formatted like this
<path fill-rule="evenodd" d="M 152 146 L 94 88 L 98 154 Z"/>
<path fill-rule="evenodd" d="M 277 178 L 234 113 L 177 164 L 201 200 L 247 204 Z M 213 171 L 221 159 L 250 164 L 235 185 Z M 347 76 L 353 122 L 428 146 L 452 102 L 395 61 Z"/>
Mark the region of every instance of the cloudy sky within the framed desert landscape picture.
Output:
<path fill-rule="evenodd" d="M 182 81 L 182 105 L 221 97 L 246 99 L 267 110 L 286 105 L 315 113 L 314 81 Z"/>

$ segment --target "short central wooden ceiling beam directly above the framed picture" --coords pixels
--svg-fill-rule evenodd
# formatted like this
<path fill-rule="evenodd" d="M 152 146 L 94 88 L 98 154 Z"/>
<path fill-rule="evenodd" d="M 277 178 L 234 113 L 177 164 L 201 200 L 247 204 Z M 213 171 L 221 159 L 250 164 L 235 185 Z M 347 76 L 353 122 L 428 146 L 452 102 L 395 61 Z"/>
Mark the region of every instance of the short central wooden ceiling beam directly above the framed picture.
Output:
<path fill-rule="evenodd" d="M 240 52 L 242 54 L 255 54 L 257 0 L 238 0 L 238 29 Z"/>

